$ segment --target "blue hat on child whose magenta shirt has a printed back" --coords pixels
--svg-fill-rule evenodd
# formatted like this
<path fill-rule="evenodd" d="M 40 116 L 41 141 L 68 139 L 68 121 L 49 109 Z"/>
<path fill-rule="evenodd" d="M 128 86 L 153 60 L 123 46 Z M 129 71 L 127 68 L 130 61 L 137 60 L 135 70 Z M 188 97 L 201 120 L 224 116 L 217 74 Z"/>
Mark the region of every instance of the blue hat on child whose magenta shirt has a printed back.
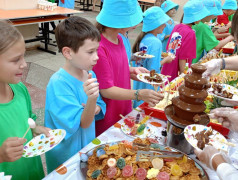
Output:
<path fill-rule="evenodd" d="M 198 0 L 188 1 L 183 7 L 183 11 L 184 24 L 190 24 L 209 16 L 207 8 Z"/>

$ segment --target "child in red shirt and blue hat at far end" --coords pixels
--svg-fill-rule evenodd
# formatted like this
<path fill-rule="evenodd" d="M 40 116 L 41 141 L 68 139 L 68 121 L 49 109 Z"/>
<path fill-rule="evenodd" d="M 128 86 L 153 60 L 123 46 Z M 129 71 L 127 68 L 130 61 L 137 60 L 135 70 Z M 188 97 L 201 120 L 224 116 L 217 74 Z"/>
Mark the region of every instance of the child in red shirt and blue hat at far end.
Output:
<path fill-rule="evenodd" d="M 227 28 L 230 28 L 231 22 L 229 21 L 229 16 L 234 14 L 235 11 L 237 10 L 237 1 L 226 0 L 222 6 L 222 10 L 223 10 L 223 15 L 217 16 L 217 23 L 220 25 L 226 25 Z"/>

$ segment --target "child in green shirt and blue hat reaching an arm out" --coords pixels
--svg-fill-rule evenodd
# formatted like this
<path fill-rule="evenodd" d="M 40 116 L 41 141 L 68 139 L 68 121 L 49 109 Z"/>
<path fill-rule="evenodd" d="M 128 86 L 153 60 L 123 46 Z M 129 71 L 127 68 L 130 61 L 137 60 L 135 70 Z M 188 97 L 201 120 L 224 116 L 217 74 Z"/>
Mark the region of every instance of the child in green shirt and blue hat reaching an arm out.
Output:
<path fill-rule="evenodd" d="M 192 27 L 196 33 L 197 45 L 196 58 L 193 59 L 192 63 L 197 63 L 203 57 L 204 51 L 208 52 L 212 49 L 219 50 L 225 44 L 233 40 L 232 36 L 229 36 L 221 41 L 216 39 L 216 36 L 213 34 L 211 28 L 207 24 L 204 24 L 204 22 L 210 22 L 210 20 L 215 18 L 215 16 L 221 15 L 221 12 L 218 11 L 215 0 L 203 0 L 203 4 L 207 8 L 209 14 L 203 18 L 201 22 Z"/>

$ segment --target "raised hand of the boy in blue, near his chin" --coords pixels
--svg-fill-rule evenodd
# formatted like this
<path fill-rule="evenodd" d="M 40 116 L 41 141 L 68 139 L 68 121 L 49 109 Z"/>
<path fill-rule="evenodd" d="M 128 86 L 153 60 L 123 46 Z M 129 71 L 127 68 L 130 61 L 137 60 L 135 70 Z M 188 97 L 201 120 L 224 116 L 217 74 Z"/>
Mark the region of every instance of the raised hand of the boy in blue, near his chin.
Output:
<path fill-rule="evenodd" d="M 92 78 L 92 74 L 88 74 L 88 80 L 83 84 L 83 90 L 87 94 L 88 99 L 97 99 L 99 96 L 99 83 L 95 82 L 97 79 Z"/>

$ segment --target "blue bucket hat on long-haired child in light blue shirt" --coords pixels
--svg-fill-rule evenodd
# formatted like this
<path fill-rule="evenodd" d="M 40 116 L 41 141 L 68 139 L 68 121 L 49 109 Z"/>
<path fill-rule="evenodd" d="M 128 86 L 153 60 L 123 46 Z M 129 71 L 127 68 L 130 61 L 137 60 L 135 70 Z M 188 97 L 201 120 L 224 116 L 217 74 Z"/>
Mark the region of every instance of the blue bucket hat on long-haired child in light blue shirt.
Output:
<path fill-rule="evenodd" d="M 160 7 L 157 6 L 147 9 L 144 12 L 143 17 L 143 32 L 152 31 L 170 20 L 170 17 L 165 14 Z"/>

